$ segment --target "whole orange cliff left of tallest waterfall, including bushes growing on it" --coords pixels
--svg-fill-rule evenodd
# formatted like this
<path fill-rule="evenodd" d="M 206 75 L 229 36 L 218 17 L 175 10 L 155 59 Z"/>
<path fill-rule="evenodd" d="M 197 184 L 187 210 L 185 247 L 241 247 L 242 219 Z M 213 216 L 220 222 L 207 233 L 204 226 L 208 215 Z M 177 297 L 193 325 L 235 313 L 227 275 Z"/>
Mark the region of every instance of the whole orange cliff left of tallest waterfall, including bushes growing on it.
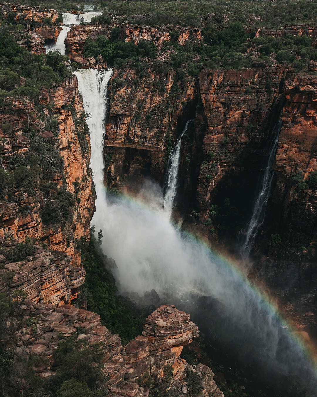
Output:
<path fill-rule="evenodd" d="M 50 249 L 72 255 L 74 263 L 80 263 L 76 240 L 89 236 L 95 193 L 89 168 L 89 135 L 83 122 L 83 102 L 76 77 L 69 77 L 52 89 L 43 89 L 39 104 L 28 99 L 13 100 L 3 113 L 0 115 L 2 167 L 13 170 L 17 183 L 0 204 L 0 237 L 12 236 L 19 241 L 25 237 L 37 238 Z M 55 135 L 45 129 L 49 119 Z M 23 135 L 25 126 L 34 131 L 31 139 Z M 30 149 L 32 153 L 37 150 L 40 156 L 35 161 L 44 167 L 45 181 L 43 174 L 33 179 L 33 173 L 17 165 L 23 156 L 33 156 Z M 55 153 L 60 154 L 61 162 Z M 26 185 L 23 175 L 19 179 L 17 168 L 25 177 L 32 177 L 32 183 Z M 61 209 L 64 205 L 66 211 Z"/>

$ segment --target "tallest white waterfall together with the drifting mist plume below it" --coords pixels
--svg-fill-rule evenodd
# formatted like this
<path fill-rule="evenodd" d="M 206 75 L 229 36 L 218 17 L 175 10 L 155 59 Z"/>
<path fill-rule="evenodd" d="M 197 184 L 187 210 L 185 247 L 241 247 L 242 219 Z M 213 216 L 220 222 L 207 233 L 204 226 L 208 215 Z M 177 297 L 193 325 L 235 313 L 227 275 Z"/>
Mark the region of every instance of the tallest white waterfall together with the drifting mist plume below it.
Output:
<path fill-rule="evenodd" d="M 182 298 L 192 301 L 207 295 L 221 303 L 218 331 L 223 343 L 261 362 L 279 374 L 315 379 L 301 348 L 283 328 L 277 315 L 248 281 L 227 262 L 201 243 L 171 225 L 162 208 L 158 184 L 147 181 L 140 196 L 146 201 L 111 197 L 104 187 L 103 142 L 106 120 L 107 84 L 111 70 L 76 72 L 90 129 L 91 162 L 96 184 L 96 212 L 92 224 L 102 229 L 102 249 L 115 259 L 120 273 L 121 292 L 143 294 L 156 289 L 169 293 L 169 303 Z M 213 328 L 214 324 L 210 324 Z M 308 381 L 307 381 L 308 382 Z"/>

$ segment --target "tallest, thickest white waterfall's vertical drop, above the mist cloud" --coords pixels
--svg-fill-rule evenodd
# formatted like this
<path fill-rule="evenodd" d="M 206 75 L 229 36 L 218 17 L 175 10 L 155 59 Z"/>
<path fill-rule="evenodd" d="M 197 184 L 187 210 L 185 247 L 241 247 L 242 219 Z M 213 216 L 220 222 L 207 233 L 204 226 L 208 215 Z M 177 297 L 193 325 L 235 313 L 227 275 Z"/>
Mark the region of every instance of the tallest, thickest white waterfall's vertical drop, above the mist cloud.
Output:
<path fill-rule="evenodd" d="M 96 212 L 92 222 L 98 221 L 104 211 L 104 135 L 106 121 L 107 87 L 112 69 L 97 71 L 96 69 L 79 69 L 75 71 L 78 88 L 83 95 L 84 109 L 90 113 L 87 124 L 91 132 L 90 145 L 92 156 L 90 168 L 94 172 L 96 187 Z M 96 226 L 98 222 L 95 222 Z M 102 229 L 102 227 L 100 227 Z"/>

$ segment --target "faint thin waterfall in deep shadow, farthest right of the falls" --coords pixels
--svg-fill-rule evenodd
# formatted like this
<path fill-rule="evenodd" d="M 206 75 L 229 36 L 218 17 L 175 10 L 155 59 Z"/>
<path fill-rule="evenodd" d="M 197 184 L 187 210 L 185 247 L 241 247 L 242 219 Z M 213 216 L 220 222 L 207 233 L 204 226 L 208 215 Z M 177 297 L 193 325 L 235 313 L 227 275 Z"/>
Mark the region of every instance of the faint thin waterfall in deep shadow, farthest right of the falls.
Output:
<path fill-rule="evenodd" d="M 264 221 L 265 210 L 267 202 L 269 200 L 269 195 L 271 191 L 271 185 L 273 181 L 274 172 L 272 170 L 273 160 L 275 158 L 275 153 L 277 150 L 277 143 L 279 141 L 280 129 L 282 128 L 282 121 L 279 121 L 274 128 L 275 136 L 273 137 L 269 158 L 267 160 L 267 166 L 262 179 L 262 187 L 257 196 L 256 202 L 254 203 L 252 217 L 250 222 L 246 227 L 246 231 L 242 230 L 239 232 L 242 235 L 242 245 L 240 248 L 242 258 L 248 258 L 252 245 L 257 236 L 257 231 Z"/>

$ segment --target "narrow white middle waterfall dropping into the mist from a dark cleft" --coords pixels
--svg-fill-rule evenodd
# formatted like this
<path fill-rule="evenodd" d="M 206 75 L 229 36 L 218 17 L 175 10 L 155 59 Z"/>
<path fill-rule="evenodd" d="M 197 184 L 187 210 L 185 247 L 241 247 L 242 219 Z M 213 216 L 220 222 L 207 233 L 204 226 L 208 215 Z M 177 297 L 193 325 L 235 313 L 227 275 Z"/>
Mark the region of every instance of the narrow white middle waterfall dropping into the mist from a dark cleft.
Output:
<path fill-rule="evenodd" d="M 173 210 L 174 199 L 177 191 L 177 177 L 179 170 L 179 162 L 181 160 L 181 140 L 183 138 L 184 133 L 187 131 L 188 124 L 190 121 L 194 121 L 194 119 L 190 119 L 187 121 L 185 128 L 179 139 L 175 142 L 171 152 L 169 153 L 169 158 L 167 162 L 167 170 L 165 174 L 165 183 L 164 183 L 164 210 L 165 212 L 171 216 Z"/>

